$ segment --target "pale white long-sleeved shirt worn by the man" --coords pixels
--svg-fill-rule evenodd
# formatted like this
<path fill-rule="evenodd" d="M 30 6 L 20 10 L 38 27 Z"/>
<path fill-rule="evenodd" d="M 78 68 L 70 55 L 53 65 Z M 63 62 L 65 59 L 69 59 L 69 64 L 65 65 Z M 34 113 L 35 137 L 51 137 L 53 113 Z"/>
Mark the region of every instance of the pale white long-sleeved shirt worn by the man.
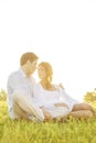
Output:
<path fill-rule="evenodd" d="M 20 68 L 18 72 L 12 73 L 9 76 L 7 84 L 7 102 L 9 109 L 9 116 L 11 119 L 15 119 L 17 116 L 13 112 L 12 96 L 15 91 L 23 91 L 28 98 L 33 96 L 33 84 L 35 82 L 33 77 L 26 77 L 24 72 Z"/>

